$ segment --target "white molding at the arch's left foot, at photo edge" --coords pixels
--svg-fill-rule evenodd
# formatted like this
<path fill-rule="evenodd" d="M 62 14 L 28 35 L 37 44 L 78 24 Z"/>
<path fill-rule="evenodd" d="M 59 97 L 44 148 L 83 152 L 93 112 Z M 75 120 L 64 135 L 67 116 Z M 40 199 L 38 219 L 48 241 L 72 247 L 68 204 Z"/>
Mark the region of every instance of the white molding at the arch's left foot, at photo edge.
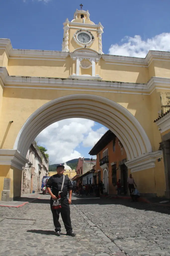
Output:
<path fill-rule="evenodd" d="M 10 165 L 22 170 L 26 163 L 28 163 L 28 159 L 18 150 L 0 149 L 0 165 Z"/>

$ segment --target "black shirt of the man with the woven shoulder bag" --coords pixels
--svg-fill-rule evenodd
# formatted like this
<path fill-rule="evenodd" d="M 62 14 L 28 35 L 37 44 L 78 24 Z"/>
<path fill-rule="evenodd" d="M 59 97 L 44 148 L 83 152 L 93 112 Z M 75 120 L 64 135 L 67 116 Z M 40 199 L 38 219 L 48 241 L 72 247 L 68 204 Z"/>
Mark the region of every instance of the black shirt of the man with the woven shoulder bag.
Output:
<path fill-rule="evenodd" d="M 58 192 L 61 191 L 61 186 L 63 182 L 63 176 L 55 174 L 49 178 L 47 181 L 46 187 L 51 188 L 52 187 L 52 193 L 55 196 L 58 196 Z M 64 200 L 67 198 L 68 190 L 72 189 L 73 185 L 71 184 L 71 181 L 68 176 L 65 176 L 64 185 L 61 193 L 61 200 Z"/>

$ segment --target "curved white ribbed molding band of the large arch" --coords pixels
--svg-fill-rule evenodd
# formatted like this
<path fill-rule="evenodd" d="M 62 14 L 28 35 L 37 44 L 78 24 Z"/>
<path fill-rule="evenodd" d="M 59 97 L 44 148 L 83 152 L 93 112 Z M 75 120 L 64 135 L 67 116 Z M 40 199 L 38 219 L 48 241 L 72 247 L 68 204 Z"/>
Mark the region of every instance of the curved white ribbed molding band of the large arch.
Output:
<path fill-rule="evenodd" d="M 128 160 L 152 152 L 146 132 L 127 109 L 114 101 L 90 94 L 60 97 L 38 108 L 22 126 L 13 149 L 26 156 L 31 143 L 42 130 L 68 118 L 86 118 L 106 126 L 122 142 Z"/>

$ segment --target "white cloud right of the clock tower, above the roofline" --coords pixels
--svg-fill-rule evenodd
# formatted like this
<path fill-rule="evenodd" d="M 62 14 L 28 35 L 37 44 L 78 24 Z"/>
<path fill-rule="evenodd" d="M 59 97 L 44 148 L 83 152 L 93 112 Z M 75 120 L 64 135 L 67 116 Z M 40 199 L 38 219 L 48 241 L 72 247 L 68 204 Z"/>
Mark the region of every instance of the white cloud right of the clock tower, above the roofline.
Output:
<path fill-rule="evenodd" d="M 109 54 L 145 58 L 149 50 L 170 51 L 170 33 L 162 33 L 142 40 L 141 36 L 124 37 L 123 44 L 111 45 Z"/>

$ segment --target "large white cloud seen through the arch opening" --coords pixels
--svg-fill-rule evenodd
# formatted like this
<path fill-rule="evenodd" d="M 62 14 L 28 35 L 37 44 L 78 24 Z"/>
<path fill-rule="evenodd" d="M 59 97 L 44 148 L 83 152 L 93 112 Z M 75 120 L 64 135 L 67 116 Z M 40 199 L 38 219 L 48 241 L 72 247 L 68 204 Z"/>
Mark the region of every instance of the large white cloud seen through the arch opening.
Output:
<path fill-rule="evenodd" d="M 107 131 L 105 127 L 94 131 L 95 122 L 72 118 L 49 125 L 37 137 L 38 144 L 47 148 L 51 164 L 67 162 L 81 157 L 76 147 L 93 147 Z M 88 156 L 88 152 L 84 157 Z"/>

